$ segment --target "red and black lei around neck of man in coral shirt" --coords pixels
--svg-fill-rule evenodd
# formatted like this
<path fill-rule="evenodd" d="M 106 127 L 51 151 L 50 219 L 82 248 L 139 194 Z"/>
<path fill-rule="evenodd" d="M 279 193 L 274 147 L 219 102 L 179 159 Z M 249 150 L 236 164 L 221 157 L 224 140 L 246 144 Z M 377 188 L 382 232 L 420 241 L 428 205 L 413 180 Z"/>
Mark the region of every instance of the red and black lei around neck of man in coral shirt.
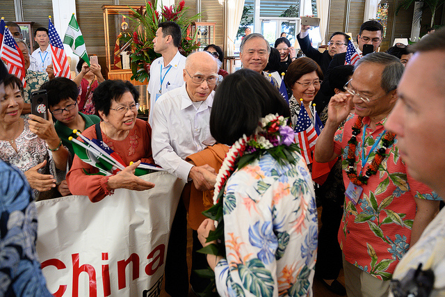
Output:
<path fill-rule="evenodd" d="M 357 121 L 353 126 L 353 136 L 351 136 L 350 140 L 348 141 L 349 150 L 348 150 L 348 158 L 346 159 L 346 161 L 348 161 L 348 170 L 346 170 L 346 173 L 348 174 L 350 181 L 357 186 L 363 186 L 364 184 L 368 184 L 369 177 L 377 173 L 380 164 L 387 157 L 386 151 L 394 143 L 394 138 L 396 136 L 396 134 L 394 133 L 386 132 L 385 136 L 383 136 L 382 138 L 382 147 L 380 147 L 380 149 L 378 149 L 377 152 L 375 152 L 374 159 L 371 162 L 371 165 L 369 165 L 368 168 L 366 169 L 365 175 L 362 175 L 362 173 L 360 173 L 360 175 L 357 175 L 357 172 L 354 168 L 355 150 L 357 149 L 357 135 L 359 135 L 363 126 L 362 120 L 363 120 L 362 117 L 358 117 Z"/>

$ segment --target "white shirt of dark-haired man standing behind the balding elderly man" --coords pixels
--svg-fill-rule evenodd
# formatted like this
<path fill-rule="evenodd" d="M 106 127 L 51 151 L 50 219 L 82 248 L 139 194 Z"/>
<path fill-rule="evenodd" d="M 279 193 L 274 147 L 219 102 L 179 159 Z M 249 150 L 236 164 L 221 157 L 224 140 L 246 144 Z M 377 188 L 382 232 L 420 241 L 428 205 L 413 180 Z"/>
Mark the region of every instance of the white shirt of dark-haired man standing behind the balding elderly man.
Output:
<path fill-rule="evenodd" d="M 148 81 L 148 93 L 150 94 L 149 124 L 153 127 L 154 103 L 162 94 L 184 85 L 182 70 L 186 67 L 186 57 L 179 54 L 172 58 L 168 65 L 164 65 L 164 58 L 160 57 L 153 61 L 150 68 L 150 79 Z M 161 77 L 162 76 L 162 77 Z M 161 83 L 162 81 L 162 83 Z"/>

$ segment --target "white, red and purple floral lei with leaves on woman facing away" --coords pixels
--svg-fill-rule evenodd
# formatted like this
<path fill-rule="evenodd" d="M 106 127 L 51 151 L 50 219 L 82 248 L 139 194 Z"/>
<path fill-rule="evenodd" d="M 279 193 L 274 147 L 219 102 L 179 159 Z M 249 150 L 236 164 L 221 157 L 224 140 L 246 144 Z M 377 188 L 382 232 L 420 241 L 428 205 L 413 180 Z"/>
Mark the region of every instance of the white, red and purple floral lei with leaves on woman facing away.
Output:
<path fill-rule="evenodd" d="M 292 152 L 298 152 L 300 148 L 295 143 L 293 129 L 287 125 L 287 118 L 282 115 L 266 115 L 261 118 L 261 122 L 252 136 L 239 138 L 232 147 L 229 148 L 218 175 L 216 176 L 215 191 L 213 193 L 213 207 L 203 211 L 202 214 L 216 221 L 216 230 L 209 232 L 207 241 L 215 241 L 217 244 L 210 244 L 202 248 L 200 252 L 211 255 L 221 255 L 225 257 L 224 240 L 224 218 L 223 218 L 223 195 L 227 179 L 236 169 L 252 163 L 255 159 L 268 152 L 280 164 L 294 164 L 296 159 Z M 204 278 L 211 278 L 209 287 L 200 294 L 201 296 L 212 296 L 214 294 L 215 273 L 211 268 L 195 271 Z"/>

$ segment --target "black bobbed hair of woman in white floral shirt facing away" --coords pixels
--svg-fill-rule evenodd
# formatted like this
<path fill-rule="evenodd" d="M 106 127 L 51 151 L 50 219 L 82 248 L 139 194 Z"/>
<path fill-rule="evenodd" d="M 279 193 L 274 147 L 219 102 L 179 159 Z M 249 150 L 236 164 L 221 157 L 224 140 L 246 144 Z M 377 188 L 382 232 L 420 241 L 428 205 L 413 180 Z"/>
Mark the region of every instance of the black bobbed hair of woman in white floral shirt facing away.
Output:
<path fill-rule="evenodd" d="M 241 69 L 218 86 L 210 115 L 210 132 L 219 143 L 232 145 L 245 134 L 254 134 L 258 122 L 269 113 L 289 118 L 282 95 L 261 74 Z"/>

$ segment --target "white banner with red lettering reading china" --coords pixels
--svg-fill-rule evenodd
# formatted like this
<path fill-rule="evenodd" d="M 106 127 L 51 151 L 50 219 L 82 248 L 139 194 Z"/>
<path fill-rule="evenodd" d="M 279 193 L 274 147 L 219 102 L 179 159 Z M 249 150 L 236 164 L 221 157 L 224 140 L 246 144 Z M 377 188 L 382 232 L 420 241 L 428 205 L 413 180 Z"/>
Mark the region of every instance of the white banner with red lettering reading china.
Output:
<path fill-rule="evenodd" d="M 168 172 L 141 177 L 147 191 L 116 190 L 36 202 L 37 251 L 54 296 L 159 296 L 168 234 L 184 181 Z"/>

